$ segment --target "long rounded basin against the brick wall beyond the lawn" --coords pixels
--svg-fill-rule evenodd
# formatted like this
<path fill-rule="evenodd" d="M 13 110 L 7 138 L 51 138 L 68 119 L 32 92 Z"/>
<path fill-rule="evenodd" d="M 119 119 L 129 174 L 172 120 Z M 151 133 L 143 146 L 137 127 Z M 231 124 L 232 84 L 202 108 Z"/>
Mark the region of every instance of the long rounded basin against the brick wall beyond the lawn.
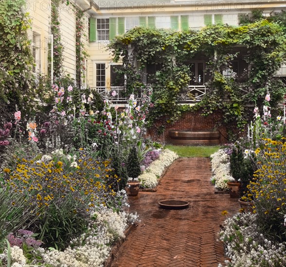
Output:
<path fill-rule="evenodd" d="M 173 145 L 215 146 L 220 144 L 218 131 L 169 130 Z"/>

